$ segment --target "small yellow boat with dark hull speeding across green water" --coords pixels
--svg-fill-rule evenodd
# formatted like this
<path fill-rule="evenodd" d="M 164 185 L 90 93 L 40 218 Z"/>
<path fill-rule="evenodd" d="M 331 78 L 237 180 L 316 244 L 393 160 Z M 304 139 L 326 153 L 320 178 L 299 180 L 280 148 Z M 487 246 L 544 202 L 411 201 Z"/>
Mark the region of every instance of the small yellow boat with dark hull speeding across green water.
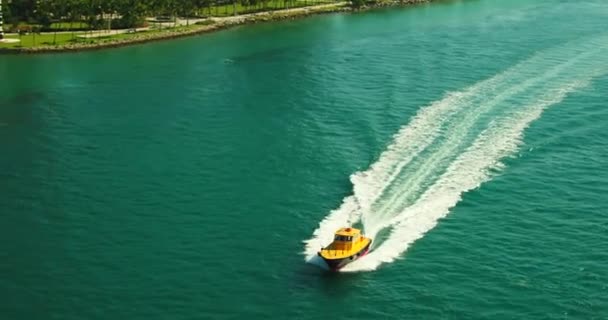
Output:
<path fill-rule="evenodd" d="M 336 231 L 334 241 L 318 252 L 332 271 L 338 271 L 345 265 L 364 256 L 372 245 L 372 239 L 361 234 L 355 228 L 342 228 Z"/>

